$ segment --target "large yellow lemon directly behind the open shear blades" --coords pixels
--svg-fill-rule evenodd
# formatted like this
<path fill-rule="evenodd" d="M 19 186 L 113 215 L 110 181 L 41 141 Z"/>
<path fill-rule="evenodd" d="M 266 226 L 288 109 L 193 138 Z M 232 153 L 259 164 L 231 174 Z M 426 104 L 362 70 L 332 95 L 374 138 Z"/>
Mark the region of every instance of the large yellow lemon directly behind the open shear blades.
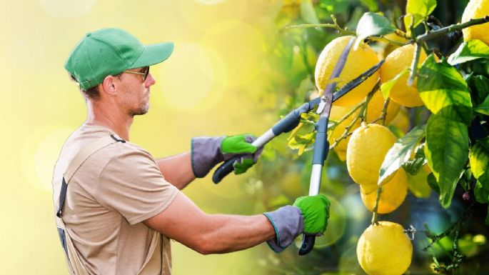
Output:
<path fill-rule="evenodd" d="M 353 37 L 354 36 L 342 36 L 333 39 L 333 41 L 328 43 L 328 45 L 324 47 L 323 51 L 321 51 L 316 63 L 316 71 L 314 74 L 316 78 L 316 86 L 318 87 L 319 91 L 323 91 L 326 84 L 328 84 L 330 81 L 331 73 L 338 62 L 341 52 L 347 46 L 348 41 L 350 41 L 350 39 Z M 336 81 L 338 81 L 336 86 L 344 86 L 349 81 L 356 79 L 356 77 L 360 76 L 363 74 L 363 72 L 370 69 L 370 67 L 377 63 L 377 54 L 375 54 L 375 51 L 373 51 L 370 46 L 366 44 L 361 45 L 358 47 L 358 49 L 356 49 L 356 51 L 353 50 L 352 46 L 348 54 L 348 59 L 346 59 L 346 64 L 343 67 L 343 71 L 341 71 L 340 76 L 338 79 L 336 79 Z M 365 98 L 370 91 L 372 91 L 377 79 L 378 72 L 375 72 L 375 74 L 363 81 L 362 84 L 349 91 L 348 94 L 344 95 L 341 99 L 338 99 L 333 104 L 338 106 L 350 106 L 357 104 L 363 98 Z"/>

